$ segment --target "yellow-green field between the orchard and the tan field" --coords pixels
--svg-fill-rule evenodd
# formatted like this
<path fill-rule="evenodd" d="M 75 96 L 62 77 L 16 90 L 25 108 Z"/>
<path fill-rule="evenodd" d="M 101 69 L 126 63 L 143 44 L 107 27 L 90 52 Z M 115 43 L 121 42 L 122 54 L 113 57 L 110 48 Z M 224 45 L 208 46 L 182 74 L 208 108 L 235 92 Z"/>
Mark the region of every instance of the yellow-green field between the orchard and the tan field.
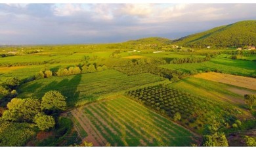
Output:
<path fill-rule="evenodd" d="M 244 105 L 244 94 L 256 94 L 255 90 L 195 77 L 185 78 L 179 82 L 170 83 L 167 86 L 211 100 L 232 102 L 240 105 Z"/>

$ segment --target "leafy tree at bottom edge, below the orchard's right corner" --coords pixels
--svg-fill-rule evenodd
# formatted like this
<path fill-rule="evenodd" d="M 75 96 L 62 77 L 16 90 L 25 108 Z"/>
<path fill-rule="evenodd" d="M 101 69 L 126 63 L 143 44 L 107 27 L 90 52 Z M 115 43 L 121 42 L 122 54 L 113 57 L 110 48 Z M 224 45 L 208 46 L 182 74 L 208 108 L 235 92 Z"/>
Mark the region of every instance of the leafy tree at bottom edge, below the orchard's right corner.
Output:
<path fill-rule="evenodd" d="M 226 140 L 226 136 L 224 133 L 216 132 L 212 135 L 207 135 L 204 137 L 203 146 L 228 146 L 228 140 Z"/>

